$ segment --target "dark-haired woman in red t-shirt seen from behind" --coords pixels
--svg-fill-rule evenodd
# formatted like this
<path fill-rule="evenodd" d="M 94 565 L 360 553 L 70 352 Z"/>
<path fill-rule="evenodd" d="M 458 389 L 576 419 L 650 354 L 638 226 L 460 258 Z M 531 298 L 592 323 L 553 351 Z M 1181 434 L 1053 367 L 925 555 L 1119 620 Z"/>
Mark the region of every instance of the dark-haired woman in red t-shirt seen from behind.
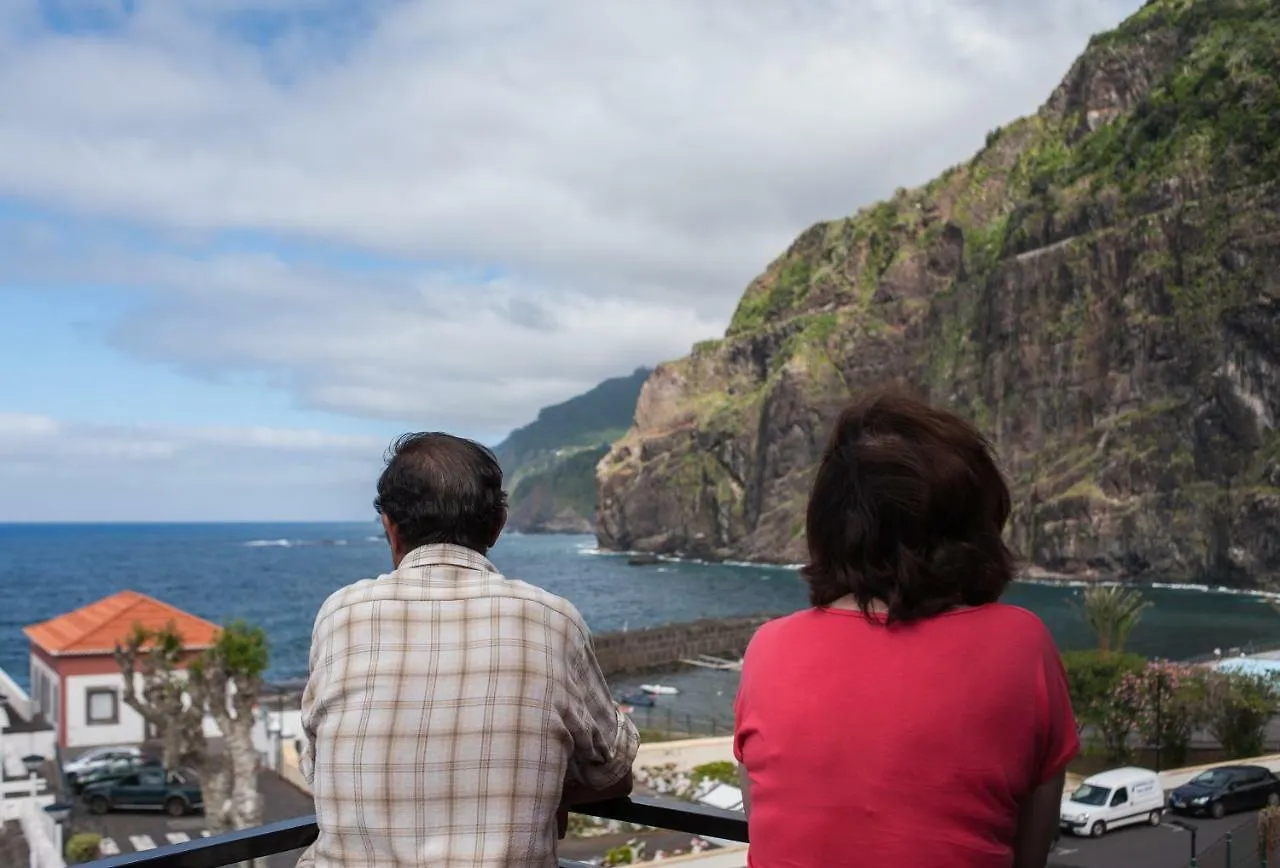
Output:
<path fill-rule="evenodd" d="M 748 648 L 733 751 L 753 868 L 1043 868 L 1079 750 L 1014 577 L 1010 495 L 969 422 L 879 394 L 809 497 L 813 608 Z"/>

